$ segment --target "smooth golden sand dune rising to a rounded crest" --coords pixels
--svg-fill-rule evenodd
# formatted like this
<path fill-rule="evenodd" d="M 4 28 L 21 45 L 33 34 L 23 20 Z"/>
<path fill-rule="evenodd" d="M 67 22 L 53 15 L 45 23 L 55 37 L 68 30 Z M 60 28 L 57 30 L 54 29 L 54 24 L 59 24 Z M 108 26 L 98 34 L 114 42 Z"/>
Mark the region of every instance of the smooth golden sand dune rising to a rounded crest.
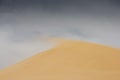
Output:
<path fill-rule="evenodd" d="M 2 70 L 0 80 L 120 80 L 120 50 L 66 40 Z"/>

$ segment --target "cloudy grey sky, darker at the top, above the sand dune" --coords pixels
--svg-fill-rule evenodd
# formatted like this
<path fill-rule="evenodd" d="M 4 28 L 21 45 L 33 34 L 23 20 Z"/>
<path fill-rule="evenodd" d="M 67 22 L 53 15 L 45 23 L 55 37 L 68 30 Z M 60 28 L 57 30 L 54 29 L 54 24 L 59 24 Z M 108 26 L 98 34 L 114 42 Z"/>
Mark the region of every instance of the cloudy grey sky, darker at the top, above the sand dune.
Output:
<path fill-rule="evenodd" d="M 120 0 L 0 0 L 0 69 L 53 47 L 43 36 L 120 48 Z"/>

